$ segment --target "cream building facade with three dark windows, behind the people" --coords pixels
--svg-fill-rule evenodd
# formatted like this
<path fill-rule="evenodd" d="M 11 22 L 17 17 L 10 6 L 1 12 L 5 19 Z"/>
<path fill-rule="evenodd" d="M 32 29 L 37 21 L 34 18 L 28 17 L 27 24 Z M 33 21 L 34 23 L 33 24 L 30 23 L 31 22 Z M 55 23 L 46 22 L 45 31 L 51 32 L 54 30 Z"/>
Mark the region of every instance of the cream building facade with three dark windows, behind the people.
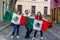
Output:
<path fill-rule="evenodd" d="M 17 0 L 16 9 L 25 13 L 28 9 L 30 12 L 50 15 L 50 0 Z"/>

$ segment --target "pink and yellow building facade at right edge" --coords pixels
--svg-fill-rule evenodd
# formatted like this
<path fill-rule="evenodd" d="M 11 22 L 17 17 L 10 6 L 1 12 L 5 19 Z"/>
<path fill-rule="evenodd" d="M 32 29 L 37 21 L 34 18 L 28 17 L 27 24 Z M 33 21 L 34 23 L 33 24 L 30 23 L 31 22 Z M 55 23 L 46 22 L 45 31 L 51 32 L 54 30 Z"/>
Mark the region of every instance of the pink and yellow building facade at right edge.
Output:
<path fill-rule="evenodd" d="M 60 23 L 60 0 L 51 0 L 50 12 L 52 21 Z"/>

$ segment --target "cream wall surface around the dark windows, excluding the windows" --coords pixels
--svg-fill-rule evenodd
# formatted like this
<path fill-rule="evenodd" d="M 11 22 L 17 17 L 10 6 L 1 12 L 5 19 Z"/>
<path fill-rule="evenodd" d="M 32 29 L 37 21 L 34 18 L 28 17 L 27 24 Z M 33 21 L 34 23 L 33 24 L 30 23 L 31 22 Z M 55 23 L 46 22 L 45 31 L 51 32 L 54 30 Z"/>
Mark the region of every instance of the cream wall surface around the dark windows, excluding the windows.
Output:
<path fill-rule="evenodd" d="M 32 1 L 17 1 L 16 9 L 18 5 L 22 5 L 23 13 L 25 13 L 26 9 L 31 10 L 31 6 L 36 6 L 36 13 L 41 11 L 44 14 L 44 6 L 48 6 L 48 15 L 50 15 L 50 3 L 49 2 L 32 2 Z"/>

